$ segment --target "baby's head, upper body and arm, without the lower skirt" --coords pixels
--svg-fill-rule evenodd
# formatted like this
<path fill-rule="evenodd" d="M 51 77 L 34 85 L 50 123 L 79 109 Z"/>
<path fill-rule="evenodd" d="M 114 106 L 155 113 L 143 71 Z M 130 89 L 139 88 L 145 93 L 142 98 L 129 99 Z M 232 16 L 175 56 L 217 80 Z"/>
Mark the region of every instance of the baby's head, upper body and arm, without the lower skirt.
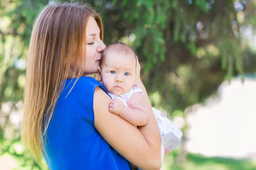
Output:
<path fill-rule="evenodd" d="M 137 56 L 128 45 L 109 45 L 102 53 L 98 79 L 113 99 L 109 111 L 133 125 L 143 126 L 148 121 L 145 103 L 142 102 L 140 108 L 128 107 L 135 99 L 143 100 L 143 91 L 134 87 L 136 65 Z"/>

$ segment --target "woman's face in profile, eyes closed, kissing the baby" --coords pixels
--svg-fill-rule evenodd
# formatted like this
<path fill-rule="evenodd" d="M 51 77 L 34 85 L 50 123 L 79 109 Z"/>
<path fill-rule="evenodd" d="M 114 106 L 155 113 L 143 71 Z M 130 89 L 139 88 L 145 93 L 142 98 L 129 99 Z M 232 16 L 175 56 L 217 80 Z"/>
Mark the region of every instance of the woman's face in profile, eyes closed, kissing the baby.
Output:
<path fill-rule="evenodd" d="M 82 68 L 83 76 L 97 73 L 102 51 L 106 48 L 106 45 L 102 42 L 99 35 L 99 26 L 96 23 L 96 20 L 93 17 L 90 17 L 86 26 L 86 54 L 85 56 L 80 56 L 81 60 L 85 58 L 85 65 Z M 73 65 L 74 57 L 71 61 L 70 69 L 73 68 Z M 72 73 L 73 71 L 70 72 Z"/>

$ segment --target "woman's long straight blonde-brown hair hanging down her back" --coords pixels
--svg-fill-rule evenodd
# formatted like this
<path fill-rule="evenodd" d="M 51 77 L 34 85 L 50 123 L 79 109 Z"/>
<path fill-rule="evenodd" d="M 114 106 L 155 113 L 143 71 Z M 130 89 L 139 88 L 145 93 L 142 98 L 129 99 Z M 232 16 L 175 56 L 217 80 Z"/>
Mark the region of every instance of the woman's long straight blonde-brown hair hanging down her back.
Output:
<path fill-rule="evenodd" d="M 67 78 L 81 77 L 74 68 L 68 77 L 71 59 L 83 65 L 86 54 L 86 26 L 94 17 L 103 40 L 102 19 L 90 6 L 79 3 L 47 5 L 35 20 L 29 43 L 29 57 L 24 90 L 24 117 L 21 137 L 26 149 L 41 164 L 47 129 L 56 101 Z M 82 62 L 81 62 L 82 61 Z"/>

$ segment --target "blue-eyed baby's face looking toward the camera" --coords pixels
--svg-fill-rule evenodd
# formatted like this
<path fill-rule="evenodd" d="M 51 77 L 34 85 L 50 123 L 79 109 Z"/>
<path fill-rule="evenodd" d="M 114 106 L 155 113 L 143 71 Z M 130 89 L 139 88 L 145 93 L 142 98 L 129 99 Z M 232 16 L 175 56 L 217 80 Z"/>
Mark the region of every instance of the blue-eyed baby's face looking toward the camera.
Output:
<path fill-rule="evenodd" d="M 105 57 L 99 73 L 102 85 L 116 96 L 128 93 L 135 82 L 136 58 L 113 52 Z"/>

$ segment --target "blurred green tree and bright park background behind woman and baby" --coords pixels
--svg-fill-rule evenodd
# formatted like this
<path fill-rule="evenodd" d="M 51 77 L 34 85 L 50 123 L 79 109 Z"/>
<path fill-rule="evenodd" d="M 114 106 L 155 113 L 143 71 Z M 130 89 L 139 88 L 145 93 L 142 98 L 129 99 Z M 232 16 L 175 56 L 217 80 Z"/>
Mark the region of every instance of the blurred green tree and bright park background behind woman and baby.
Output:
<path fill-rule="evenodd" d="M 23 89 L 33 21 L 64 1 L 0 0 L 0 170 L 47 170 L 20 141 Z M 71 2 L 102 14 L 106 45 L 134 48 L 152 105 L 183 131 L 164 170 L 256 170 L 256 0 Z"/>

